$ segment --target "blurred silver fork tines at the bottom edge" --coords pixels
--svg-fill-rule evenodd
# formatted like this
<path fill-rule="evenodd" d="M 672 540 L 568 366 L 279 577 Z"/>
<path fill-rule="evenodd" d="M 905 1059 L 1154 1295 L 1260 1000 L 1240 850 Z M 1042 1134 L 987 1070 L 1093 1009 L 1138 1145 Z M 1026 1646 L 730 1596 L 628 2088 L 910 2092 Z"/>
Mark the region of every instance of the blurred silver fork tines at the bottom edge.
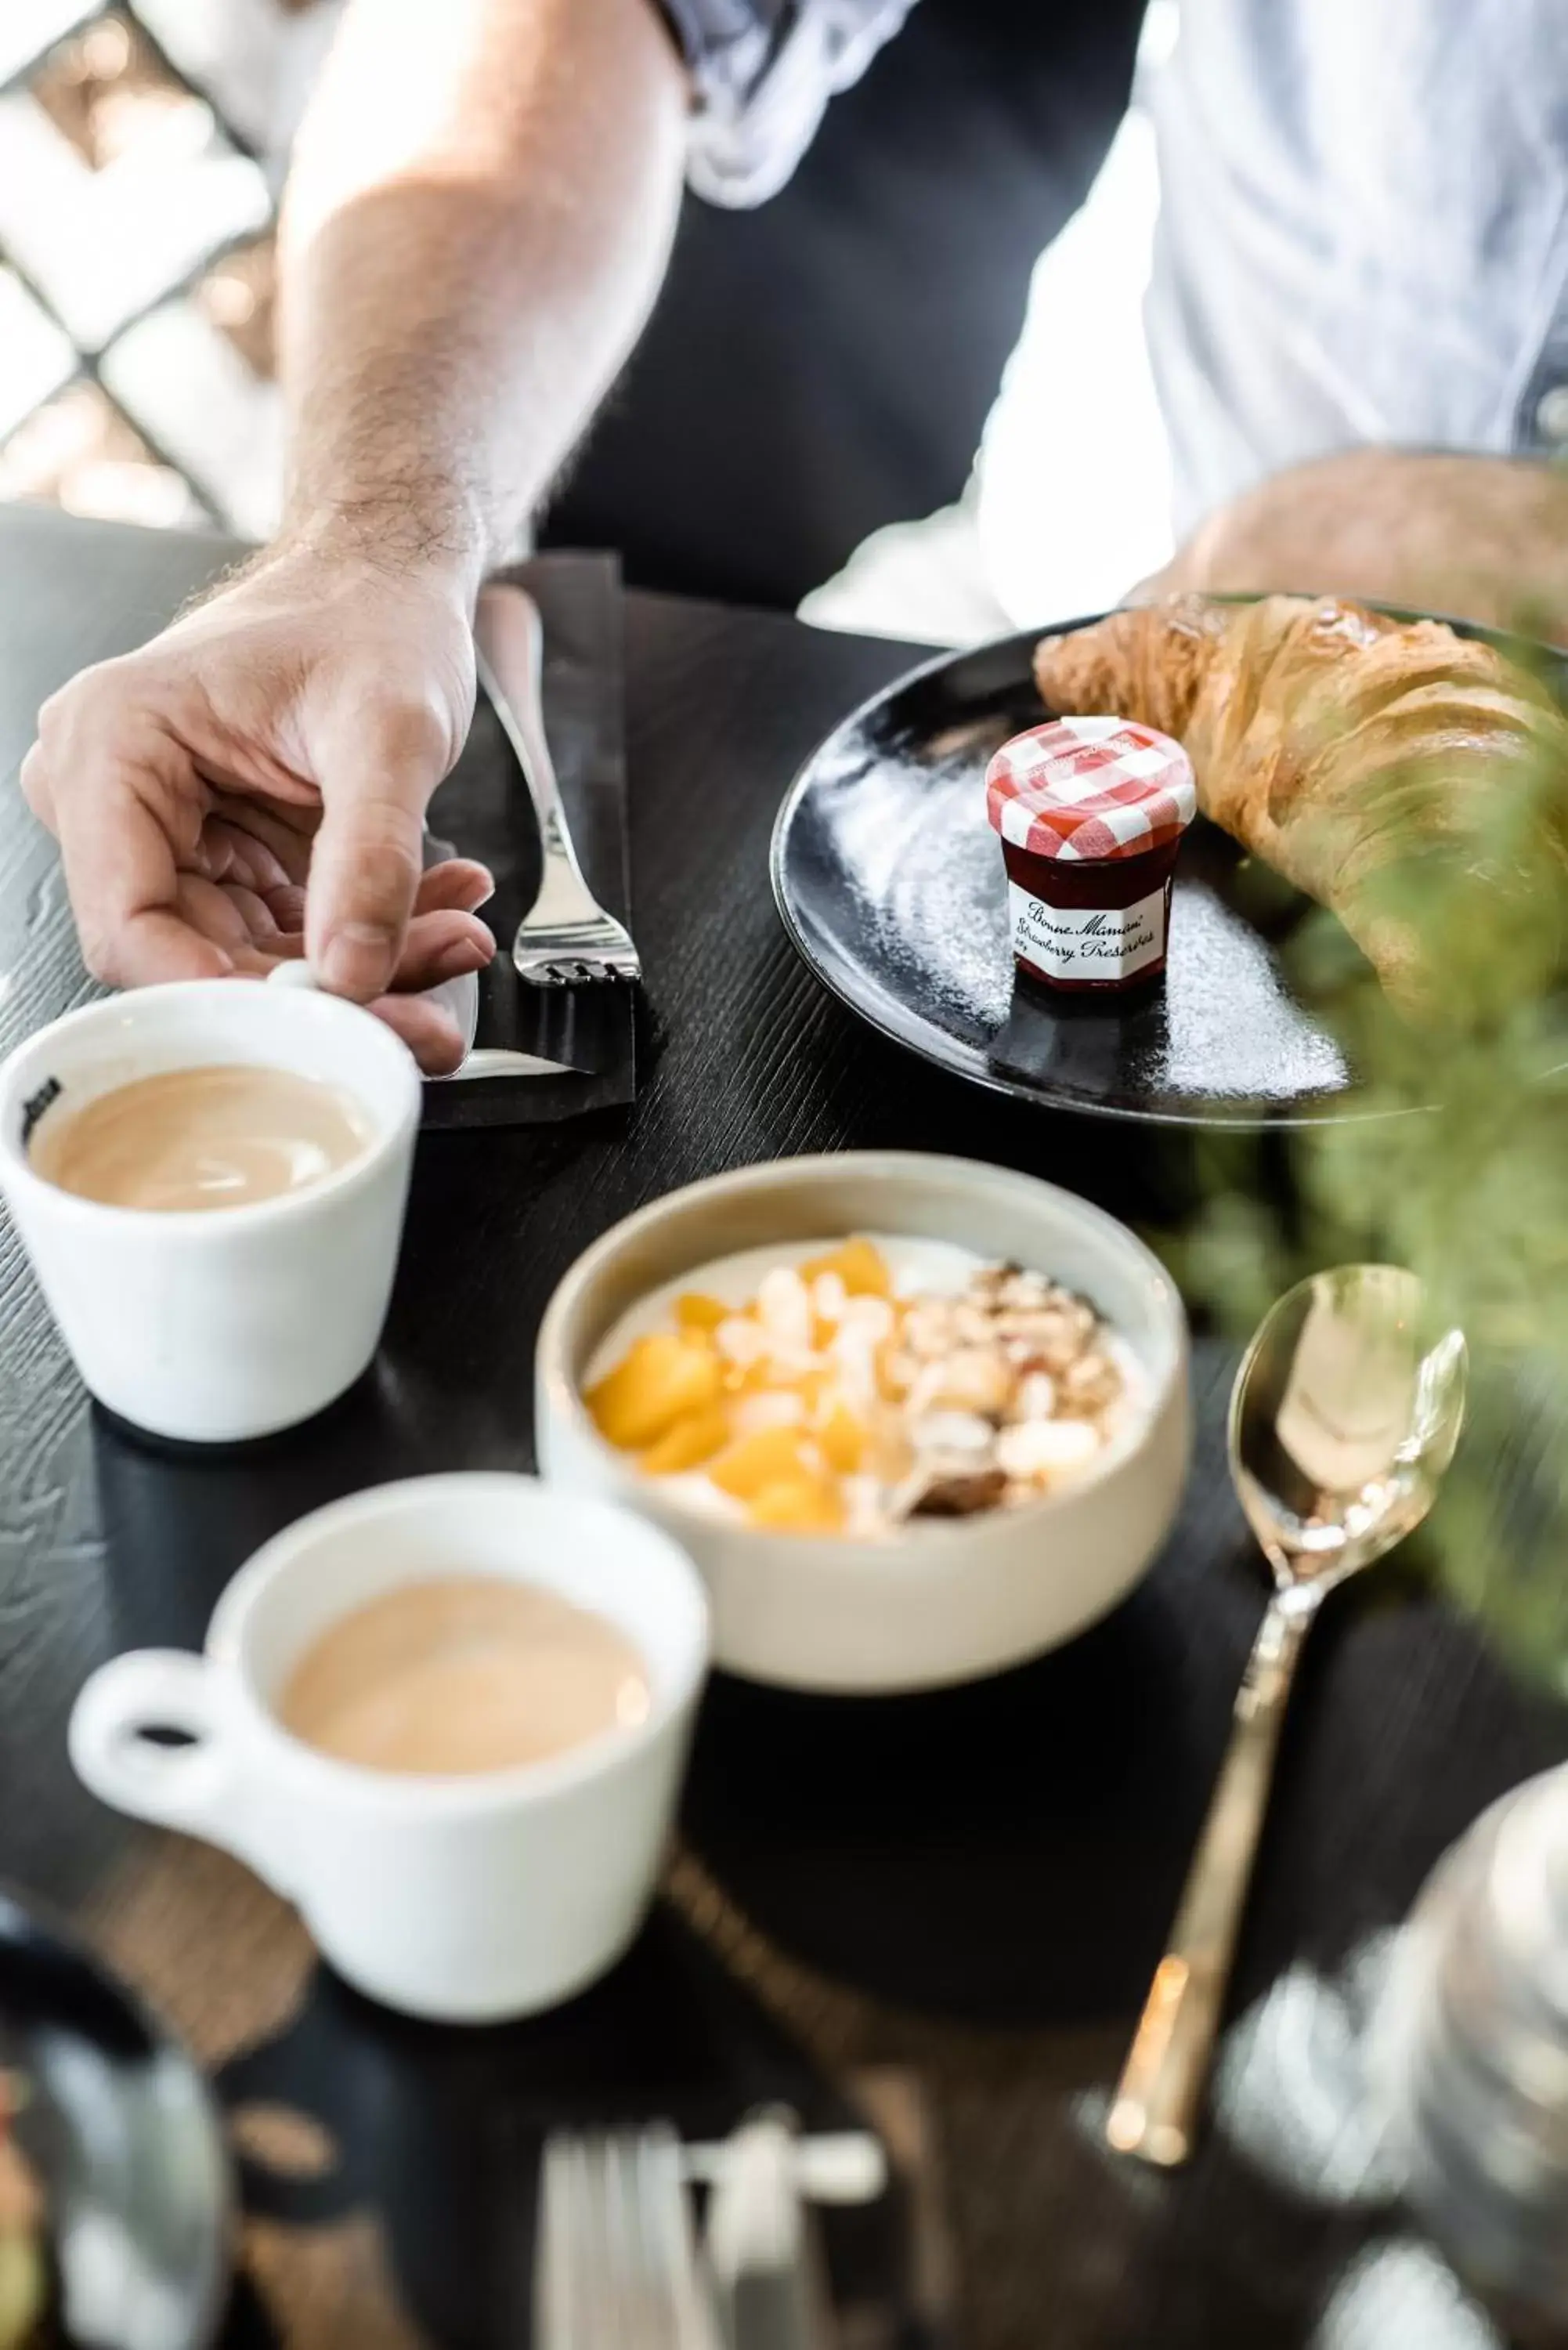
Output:
<path fill-rule="evenodd" d="M 719 2350 L 675 2131 L 555 2131 L 538 2183 L 538 2350 Z"/>

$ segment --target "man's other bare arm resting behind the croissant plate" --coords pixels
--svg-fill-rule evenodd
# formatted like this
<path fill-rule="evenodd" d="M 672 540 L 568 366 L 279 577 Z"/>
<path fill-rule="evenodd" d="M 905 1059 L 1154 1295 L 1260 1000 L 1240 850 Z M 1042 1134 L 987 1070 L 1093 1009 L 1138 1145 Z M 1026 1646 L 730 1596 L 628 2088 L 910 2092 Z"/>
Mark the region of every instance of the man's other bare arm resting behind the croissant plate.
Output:
<path fill-rule="evenodd" d="M 1450 611 L 1568 644 L 1568 472 L 1352 449 L 1220 508 L 1140 597 L 1272 588 Z"/>

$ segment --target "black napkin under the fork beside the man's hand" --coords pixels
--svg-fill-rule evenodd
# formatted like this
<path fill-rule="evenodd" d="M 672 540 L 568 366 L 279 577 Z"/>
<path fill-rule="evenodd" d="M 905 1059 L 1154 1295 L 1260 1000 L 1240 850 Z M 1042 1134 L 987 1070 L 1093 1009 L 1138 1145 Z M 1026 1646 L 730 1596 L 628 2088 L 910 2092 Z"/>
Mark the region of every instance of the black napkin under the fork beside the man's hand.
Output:
<path fill-rule="evenodd" d="M 545 733 L 571 839 L 599 905 L 630 924 L 621 564 L 614 555 L 541 555 L 498 578 L 529 590 L 545 623 Z M 430 827 L 496 874 L 484 921 L 498 940 L 480 978 L 480 1046 L 567 1060 L 583 1076 L 477 1076 L 425 1086 L 425 1126 L 538 1126 L 637 1097 L 635 989 L 527 987 L 512 933 L 538 895 L 538 827 L 501 721 L 480 696 L 475 721 L 430 806 Z"/>

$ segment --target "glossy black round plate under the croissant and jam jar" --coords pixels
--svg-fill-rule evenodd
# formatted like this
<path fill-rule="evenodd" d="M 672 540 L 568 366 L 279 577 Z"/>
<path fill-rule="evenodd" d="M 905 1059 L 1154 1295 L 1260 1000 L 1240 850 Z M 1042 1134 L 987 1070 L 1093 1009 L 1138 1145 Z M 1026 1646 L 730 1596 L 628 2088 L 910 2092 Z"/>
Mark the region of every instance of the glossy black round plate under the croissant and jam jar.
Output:
<path fill-rule="evenodd" d="M 1013 985 L 983 776 L 1046 717 L 1039 637 L 912 670 L 811 754 L 773 827 L 773 895 L 806 964 L 924 1060 L 1056 1109 L 1161 1126 L 1363 1116 L 1279 959 L 1307 902 L 1201 818 L 1175 872 L 1164 985 L 1110 999 Z"/>

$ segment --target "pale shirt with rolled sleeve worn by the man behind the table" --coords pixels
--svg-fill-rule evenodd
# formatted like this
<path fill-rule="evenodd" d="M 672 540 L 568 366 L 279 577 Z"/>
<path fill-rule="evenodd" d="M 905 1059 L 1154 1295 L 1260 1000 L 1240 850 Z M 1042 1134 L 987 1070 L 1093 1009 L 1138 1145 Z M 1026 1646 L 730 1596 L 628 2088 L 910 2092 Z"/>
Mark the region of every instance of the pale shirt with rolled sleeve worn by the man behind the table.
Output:
<path fill-rule="evenodd" d="M 778 188 L 907 14 L 665 7 L 717 202 Z M 992 592 L 1018 623 L 1114 602 L 1218 503 L 1366 442 L 1568 444 L 1568 5 L 1154 0 L 985 435 Z"/>

